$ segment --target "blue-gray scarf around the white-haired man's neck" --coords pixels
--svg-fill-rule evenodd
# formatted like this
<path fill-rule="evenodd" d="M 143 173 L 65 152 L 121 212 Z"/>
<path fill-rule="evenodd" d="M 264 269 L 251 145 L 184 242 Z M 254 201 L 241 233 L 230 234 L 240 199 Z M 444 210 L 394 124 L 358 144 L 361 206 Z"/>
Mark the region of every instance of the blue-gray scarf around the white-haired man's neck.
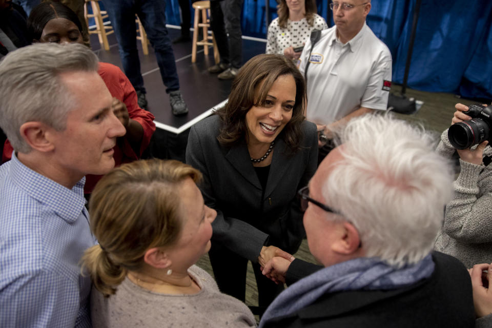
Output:
<path fill-rule="evenodd" d="M 432 255 L 396 269 L 375 257 L 361 257 L 323 268 L 289 286 L 270 304 L 258 328 L 268 320 L 294 313 L 326 293 L 391 290 L 412 285 L 434 272 Z"/>

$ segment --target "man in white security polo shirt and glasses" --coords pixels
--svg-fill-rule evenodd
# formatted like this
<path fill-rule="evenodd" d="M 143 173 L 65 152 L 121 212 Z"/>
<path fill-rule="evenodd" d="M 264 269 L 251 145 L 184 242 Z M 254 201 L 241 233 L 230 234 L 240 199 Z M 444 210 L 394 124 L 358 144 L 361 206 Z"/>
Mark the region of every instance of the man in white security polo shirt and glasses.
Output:
<path fill-rule="evenodd" d="M 370 0 L 334 1 L 330 8 L 335 26 L 321 32 L 312 50 L 311 40 L 306 42 L 299 63 L 304 74 L 310 62 L 306 116 L 328 137 L 344 121 L 386 110 L 392 65 L 389 49 L 365 24 Z M 330 150 L 322 147 L 320 160 Z"/>

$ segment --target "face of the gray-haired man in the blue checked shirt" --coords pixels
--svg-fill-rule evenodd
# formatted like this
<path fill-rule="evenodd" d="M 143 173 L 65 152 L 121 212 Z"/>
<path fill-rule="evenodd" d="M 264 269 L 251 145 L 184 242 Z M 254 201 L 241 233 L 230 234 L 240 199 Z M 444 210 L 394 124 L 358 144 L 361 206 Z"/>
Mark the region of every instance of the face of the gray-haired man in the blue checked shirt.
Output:
<path fill-rule="evenodd" d="M 113 114 L 113 98 L 97 72 L 67 72 L 60 79 L 75 109 L 67 114 L 66 129 L 48 128 L 54 146 L 53 163 L 62 185 L 73 185 L 87 174 L 106 174 L 114 167 L 116 137 L 126 133 Z"/>

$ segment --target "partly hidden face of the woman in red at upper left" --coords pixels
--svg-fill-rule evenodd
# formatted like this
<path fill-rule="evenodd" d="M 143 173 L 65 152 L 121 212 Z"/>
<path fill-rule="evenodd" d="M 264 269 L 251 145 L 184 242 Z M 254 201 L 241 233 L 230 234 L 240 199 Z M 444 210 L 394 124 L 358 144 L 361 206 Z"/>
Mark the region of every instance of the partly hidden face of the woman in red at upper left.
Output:
<path fill-rule="evenodd" d="M 66 18 L 54 18 L 46 23 L 43 33 L 38 42 L 50 42 L 50 43 L 79 43 L 84 44 L 82 34 L 78 30 L 78 27 Z"/>

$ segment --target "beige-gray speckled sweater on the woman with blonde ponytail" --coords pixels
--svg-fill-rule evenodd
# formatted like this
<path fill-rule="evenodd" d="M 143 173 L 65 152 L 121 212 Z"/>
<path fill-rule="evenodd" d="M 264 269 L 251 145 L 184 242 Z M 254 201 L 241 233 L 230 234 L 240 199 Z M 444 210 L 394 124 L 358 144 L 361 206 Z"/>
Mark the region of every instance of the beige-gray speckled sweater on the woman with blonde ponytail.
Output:
<path fill-rule="evenodd" d="M 126 278 L 116 294 L 104 298 L 92 289 L 92 326 L 98 327 L 254 327 L 255 318 L 240 300 L 219 292 L 215 280 L 193 265 L 188 271 L 201 291 L 194 295 L 153 293 Z"/>

